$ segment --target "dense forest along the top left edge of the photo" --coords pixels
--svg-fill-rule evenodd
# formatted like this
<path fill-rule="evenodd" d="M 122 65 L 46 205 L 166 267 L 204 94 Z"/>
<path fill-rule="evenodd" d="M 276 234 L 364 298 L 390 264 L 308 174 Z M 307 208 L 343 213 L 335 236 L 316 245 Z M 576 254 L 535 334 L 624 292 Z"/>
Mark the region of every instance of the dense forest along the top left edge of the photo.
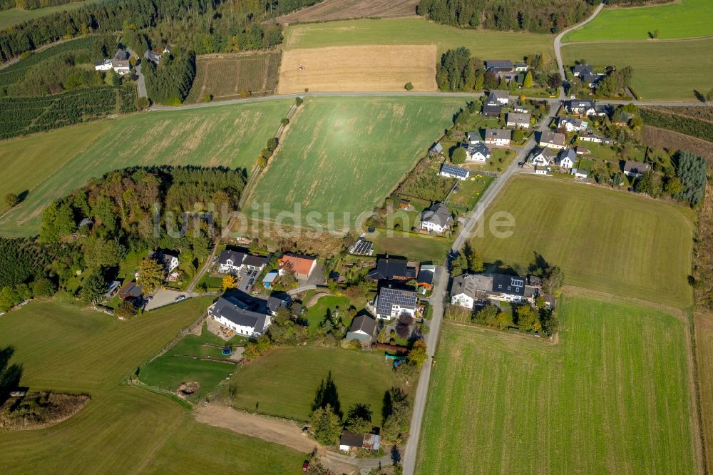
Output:
<path fill-rule="evenodd" d="M 93 32 L 142 31 L 156 44 L 170 41 L 198 53 L 265 48 L 282 41 L 270 16 L 315 0 L 114 0 L 61 11 L 0 31 L 0 58 L 7 61 L 59 39 Z M 140 53 L 140 51 L 138 52 Z"/>

